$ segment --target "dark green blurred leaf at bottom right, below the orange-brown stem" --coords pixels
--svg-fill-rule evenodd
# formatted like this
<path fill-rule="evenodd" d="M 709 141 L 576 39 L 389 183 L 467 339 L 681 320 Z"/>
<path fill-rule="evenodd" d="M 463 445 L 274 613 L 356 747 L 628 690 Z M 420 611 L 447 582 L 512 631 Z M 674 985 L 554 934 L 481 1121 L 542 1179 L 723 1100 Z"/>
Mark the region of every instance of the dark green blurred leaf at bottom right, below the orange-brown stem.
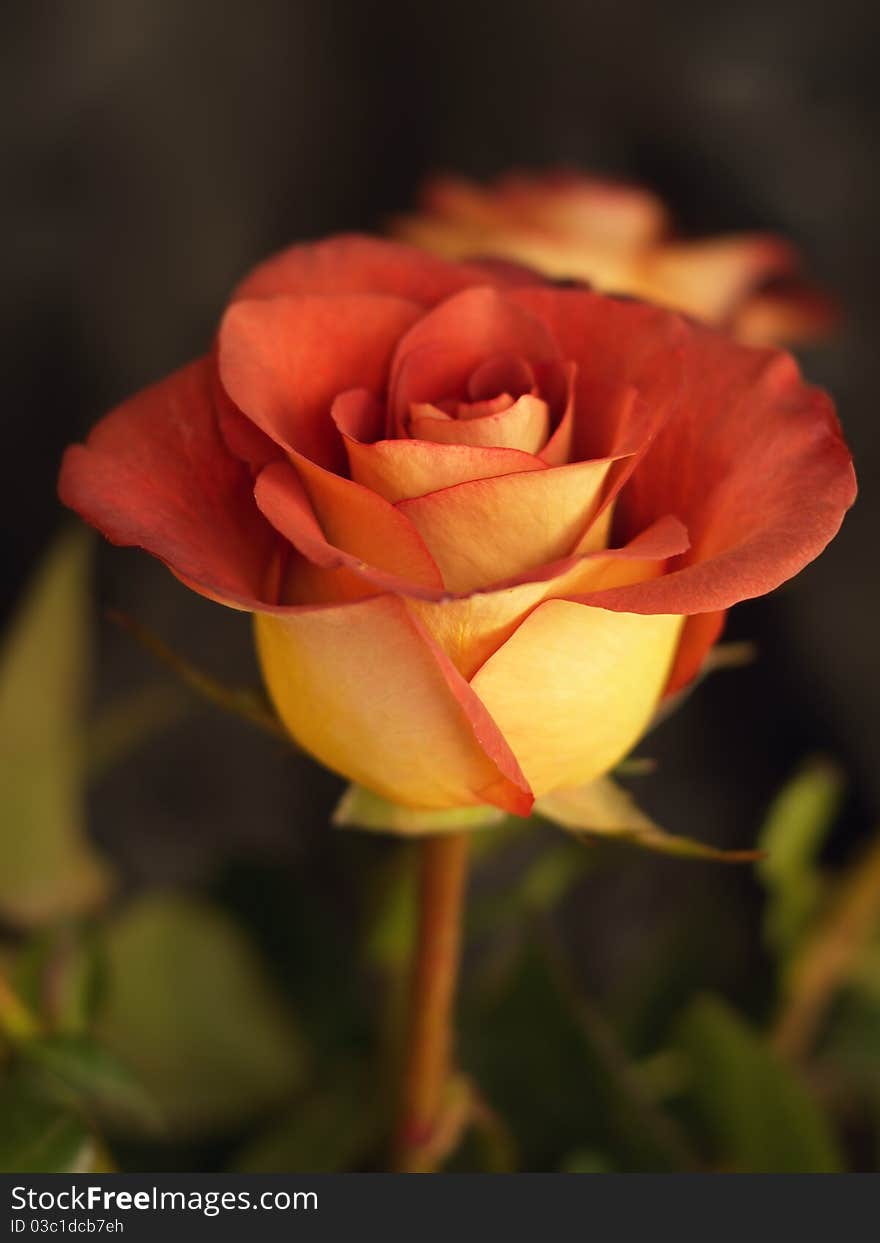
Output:
<path fill-rule="evenodd" d="M 686 1011 L 676 1044 L 687 1059 L 687 1100 L 716 1156 L 746 1173 L 833 1173 L 836 1142 L 818 1105 L 725 1002 Z"/>

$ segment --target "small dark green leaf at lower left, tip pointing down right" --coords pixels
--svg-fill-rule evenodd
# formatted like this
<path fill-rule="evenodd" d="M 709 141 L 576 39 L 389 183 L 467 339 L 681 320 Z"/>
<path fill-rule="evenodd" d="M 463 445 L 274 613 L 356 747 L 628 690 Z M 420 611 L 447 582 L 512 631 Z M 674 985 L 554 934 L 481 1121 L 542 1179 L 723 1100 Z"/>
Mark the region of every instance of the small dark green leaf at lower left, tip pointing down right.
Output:
<path fill-rule="evenodd" d="M 31 1040 L 24 1060 L 42 1073 L 58 1100 L 93 1121 L 126 1130 L 155 1131 L 157 1106 L 131 1071 L 85 1035 L 55 1035 Z"/>

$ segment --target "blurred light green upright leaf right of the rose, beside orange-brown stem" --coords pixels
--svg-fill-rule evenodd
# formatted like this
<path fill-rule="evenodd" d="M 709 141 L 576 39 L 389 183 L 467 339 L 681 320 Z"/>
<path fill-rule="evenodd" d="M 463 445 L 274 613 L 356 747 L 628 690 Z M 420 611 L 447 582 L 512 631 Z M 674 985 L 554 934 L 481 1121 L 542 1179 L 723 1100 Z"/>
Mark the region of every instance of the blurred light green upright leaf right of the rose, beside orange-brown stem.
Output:
<path fill-rule="evenodd" d="M 764 819 L 758 876 L 767 890 L 764 936 L 786 966 L 814 915 L 823 891 L 817 858 L 844 792 L 840 769 L 809 759 L 782 788 Z"/>

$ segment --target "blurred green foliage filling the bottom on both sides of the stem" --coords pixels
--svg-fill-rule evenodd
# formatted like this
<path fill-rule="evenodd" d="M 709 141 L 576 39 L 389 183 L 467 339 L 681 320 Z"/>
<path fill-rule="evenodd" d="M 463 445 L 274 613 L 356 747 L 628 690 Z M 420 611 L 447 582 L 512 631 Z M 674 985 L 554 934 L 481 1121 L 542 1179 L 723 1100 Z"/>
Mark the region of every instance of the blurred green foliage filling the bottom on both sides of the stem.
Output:
<path fill-rule="evenodd" d="M 230 861 L 211 892 L 124 891 L 86 791 L 185 700 L 154 684 L 89 713 L 88 548 L 50 551 L 0 656 L 0 1170 L 383 1168 L 418 845 L 328 829 L 329 888 L 306 855 Z M 827 868 L 841 797 L 810 759 L 768 809 L 762 978 L 736 997 L 699 885 L 644 970 L 589 987 L 567 920 L 630 866 L 613 839 L 697 856 L 653 860 L 658 883 L 717 854 L 623 786 L 548 804 L 571 833 L 475 832 L 445 1168 L 876 1167 L 880 848 Z M 353 792 L 338 820 L 385 814 Z"/>

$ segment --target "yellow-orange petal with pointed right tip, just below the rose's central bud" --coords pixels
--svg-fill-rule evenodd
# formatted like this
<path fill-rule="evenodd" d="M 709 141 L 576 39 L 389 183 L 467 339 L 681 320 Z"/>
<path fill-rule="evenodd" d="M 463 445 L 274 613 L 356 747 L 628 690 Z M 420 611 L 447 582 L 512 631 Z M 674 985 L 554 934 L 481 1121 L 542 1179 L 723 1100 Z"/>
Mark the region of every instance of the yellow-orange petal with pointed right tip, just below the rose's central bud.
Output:
<path fill-rule="evenodd" d="M 450 592 L 471 592 L 571 553 L 589 526 L 609 460 L 457 484 L 401 501 Z"/>

